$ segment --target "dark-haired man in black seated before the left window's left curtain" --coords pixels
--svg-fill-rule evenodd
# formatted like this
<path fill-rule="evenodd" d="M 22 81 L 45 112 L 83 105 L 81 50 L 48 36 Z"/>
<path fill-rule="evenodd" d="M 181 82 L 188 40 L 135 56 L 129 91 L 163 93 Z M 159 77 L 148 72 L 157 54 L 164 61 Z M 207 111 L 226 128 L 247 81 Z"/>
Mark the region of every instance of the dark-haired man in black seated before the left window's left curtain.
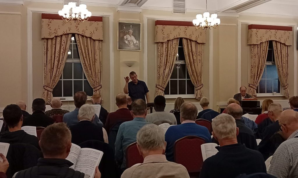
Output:
<path fill-rule="evenodd" d="M 36 98 L 32 102 L 32 115 L 24 118 L 23 126 L 47 127 L 54 124 L 54 120 L 44 114 L 46 102 L 42 98 Z"/>

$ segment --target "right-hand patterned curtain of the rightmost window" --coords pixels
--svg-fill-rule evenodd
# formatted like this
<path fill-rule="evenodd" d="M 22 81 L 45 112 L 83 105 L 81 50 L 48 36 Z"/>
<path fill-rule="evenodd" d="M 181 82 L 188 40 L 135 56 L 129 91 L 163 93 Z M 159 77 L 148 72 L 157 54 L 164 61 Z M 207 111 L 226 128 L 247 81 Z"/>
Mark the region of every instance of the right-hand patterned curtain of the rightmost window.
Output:
<path fill-rule="evenodd" d="M 273 41 L 275 65 L 277 68 L 278 78 L 282 84 L 283 90 L 285 91 L 285 97 L 289 98 L 288 89 L 288 46 L 278 41 Z"/>

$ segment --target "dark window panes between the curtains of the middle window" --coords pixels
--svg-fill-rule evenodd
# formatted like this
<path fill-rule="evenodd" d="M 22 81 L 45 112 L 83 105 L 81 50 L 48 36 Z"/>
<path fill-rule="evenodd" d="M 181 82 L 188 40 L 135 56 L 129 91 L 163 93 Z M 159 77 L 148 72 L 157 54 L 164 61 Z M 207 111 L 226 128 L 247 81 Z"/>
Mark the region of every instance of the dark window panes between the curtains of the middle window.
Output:
<path fill-rule="evenodd" d="M 165 95 L 188 95 L 194 97 L 195 87 L 190 80 L 185 63 L 185 56 L 182 45 L 182 38 L 179 38 L 178 53 L 175 61 L 173 73 L 165 90 Z M 186 96 L 187 97 L 187 96 Z"/>

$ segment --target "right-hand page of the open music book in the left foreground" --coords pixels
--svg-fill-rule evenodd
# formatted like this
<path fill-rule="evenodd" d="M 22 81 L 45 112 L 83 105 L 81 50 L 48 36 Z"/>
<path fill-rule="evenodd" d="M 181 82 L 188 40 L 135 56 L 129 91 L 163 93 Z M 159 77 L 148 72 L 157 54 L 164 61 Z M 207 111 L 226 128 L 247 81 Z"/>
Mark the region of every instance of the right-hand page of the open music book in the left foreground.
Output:
<path fill-rule="evenodd" d="M 95 167 L 99 165 L 102 157 L 103 152 L 99 150 L 82 148 L 75 170 L 88 174 L 91 178 L 93 178 L 95 175 Z"/>

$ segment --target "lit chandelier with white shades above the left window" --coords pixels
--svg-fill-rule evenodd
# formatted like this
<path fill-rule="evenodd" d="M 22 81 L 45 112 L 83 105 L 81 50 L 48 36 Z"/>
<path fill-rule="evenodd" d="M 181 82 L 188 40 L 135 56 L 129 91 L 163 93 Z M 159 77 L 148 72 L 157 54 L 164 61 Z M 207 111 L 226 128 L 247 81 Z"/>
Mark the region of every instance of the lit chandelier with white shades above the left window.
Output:
<path fill-rule="evenodd" d="M 65 4 L 63 9 L 58 11 L 58 14 L 66 21 L 88 21 L 89 17 L 91 17 L 91 12 L 87 10 L 87 6 L 85 4 L 76 6 L 76 4 L 76 2 L 69 2 L 68 4 Z"/>

